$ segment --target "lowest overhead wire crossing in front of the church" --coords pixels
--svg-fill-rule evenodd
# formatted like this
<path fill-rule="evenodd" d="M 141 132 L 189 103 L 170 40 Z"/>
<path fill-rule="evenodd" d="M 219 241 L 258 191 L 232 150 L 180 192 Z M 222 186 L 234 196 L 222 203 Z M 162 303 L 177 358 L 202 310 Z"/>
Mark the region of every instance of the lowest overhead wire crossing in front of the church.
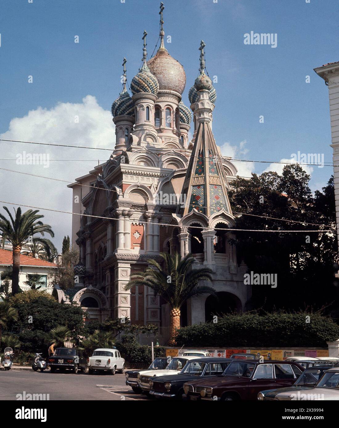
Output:
<path fill-rule="evenodd" d="M 119 220 L 118 218 L 115 217 L 103 217 L 103 216 L 98 216 L 98 215 L 92 215 L 92 214 L 81 214 L 81 213 L 74 213 L 72 211 L 62 211 L 62 210 L 54 210 L 52 208 L 42 208 L 42 207 L 34 207 L 32 205 L 24 205 L 24 204 L 18 204 L 15 202 L 8 202 L 8 201 L 0 201 L 2 204 L 9 204 L 9 205 L 17 205 L 20 207 L 25 207 L 25 208 L 33 208 L 33 209 L 37 209 L 37 210 L 43 210 L 43 211 L 52 211 L 52 212 L 57 212 L 57 213 L 63 213 L 63 214 L 72 214 L 72 215 L 80 215 L 80 216 L 85 216 L 85 217 L 95 217 L 95 218 L 103 218 L 105 220 Z M 140 224 L 156 224 L 158 226 L 169 226 L 169 227 L 181 227 L 183 229 L 210 229 L 209 227 L 205 227 L 205 226 L 178 226 L 177 224 L 167 224 L 167 223 L 153 223 L 153 222 L 147 222 L 147 221 L 141 221 L 141 220 L 135 220 Z M 133 220 L 132 220 L 133 223 Z M 278 233 L 312 233 L 312 232 L 319 232 L 319 233 L 324 233 L 324 232 L 332 232 L 330 229 L 325 229 L 325 230 L 256 230 L 256 229 L 224 229 L 224 228 L 214 228 L 213 230 L 222 230 L 222 231 L 226 231 L 228 230 L 229 232 L 278 232 Z"/>

